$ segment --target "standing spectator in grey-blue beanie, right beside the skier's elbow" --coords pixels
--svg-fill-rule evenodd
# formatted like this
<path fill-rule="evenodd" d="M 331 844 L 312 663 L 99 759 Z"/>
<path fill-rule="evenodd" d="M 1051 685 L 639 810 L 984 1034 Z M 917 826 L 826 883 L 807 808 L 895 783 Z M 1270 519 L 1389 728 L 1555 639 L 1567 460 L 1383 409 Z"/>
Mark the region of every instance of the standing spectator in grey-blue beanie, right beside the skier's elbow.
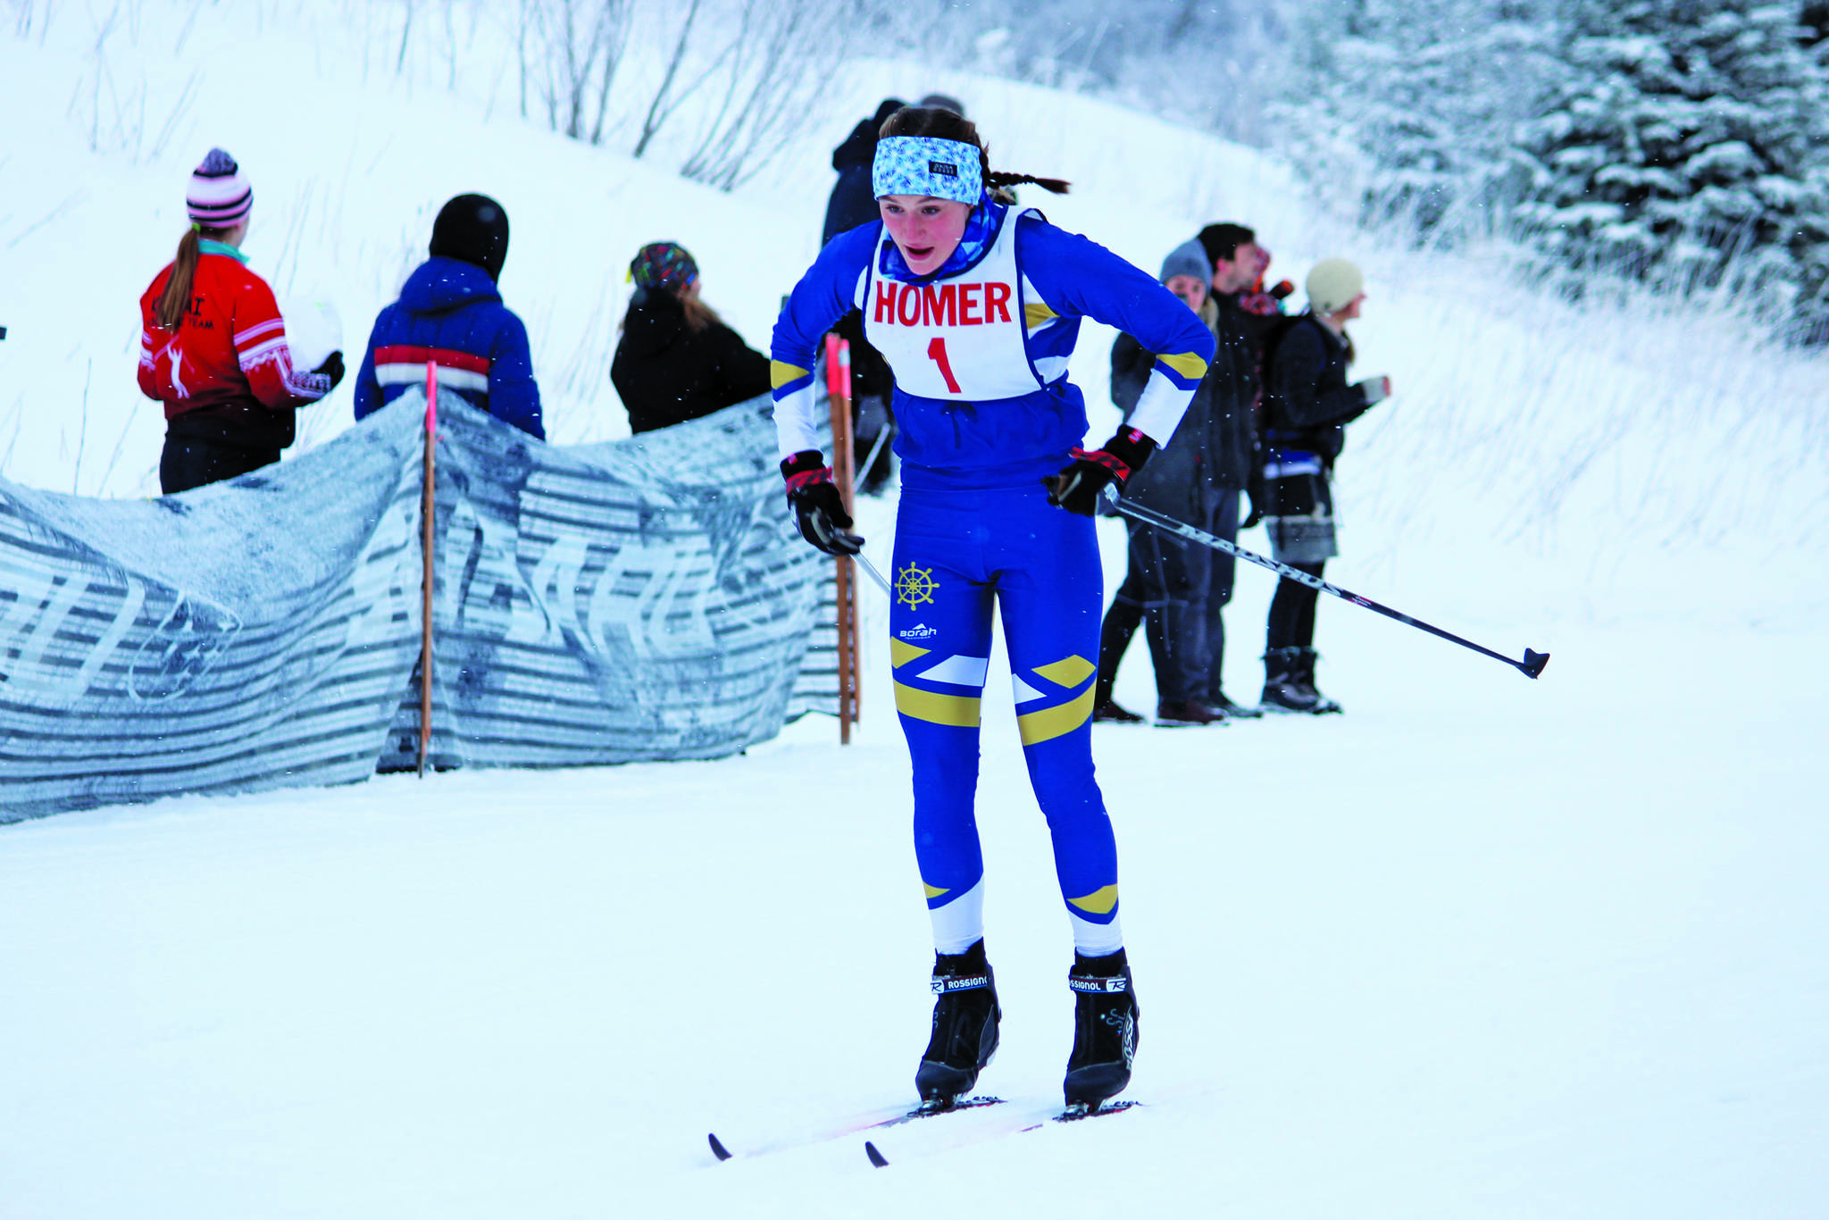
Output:
<path fill-rule="evenodd" d="M 1161 263 L 1161 282 L 1171 293 L 1200 313 L 1211 326 L 1207 282 L 1211 263 L 1198 241 L 1176 247 Z M 1143 386 L 1156 364 L 1156 355 L 1145 351 L 1130 335 L 1119 335 L 1112 344 L 1112 402 L 1130 417 Z M 1187 521 L 1196 529 L 1211 529 L 1220 492 L 1214 485 L 1213 463 L 1220 452 L 1225 428 L 1216 419 L 1216 390 L 1229 380 L 1225 353 L 1214 355 L 1207 375 L 1194 390 L 1187 413 L 1163 446 L 1125 487 L 1125 499 Z M 1233 494 L 1233 529 L 1238 525 L 1238 496 Z M 1141 521 L 1127 521 L 1130 529 L 1130 569 L 1118 587 L 1105 622 L 1099 626 L 1099 680 L 1092 715 L 1097 721 L 1136 722 L 1143 717 L 1127 712 L 1112 699 L 1118 666 L 1138 620 L 1147 622 L 1150 660 L 1156 666 L 1156 724 L 1176 728 L 1213 724 L 1225 715 L 1207 706 L 1207 589 L 1211 585 L 1213 551 L 1167 534 Z"/>

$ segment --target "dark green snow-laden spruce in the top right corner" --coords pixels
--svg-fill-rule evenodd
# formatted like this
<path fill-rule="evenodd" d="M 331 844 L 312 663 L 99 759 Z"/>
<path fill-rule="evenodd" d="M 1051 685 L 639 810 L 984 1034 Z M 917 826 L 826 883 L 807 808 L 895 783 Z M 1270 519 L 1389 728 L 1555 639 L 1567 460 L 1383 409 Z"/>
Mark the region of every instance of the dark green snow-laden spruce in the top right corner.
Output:
<path fill-rule="evenodd" d="M 1535 243 L 1577 271 L 1745 291 L 1787 337 L 1829 340 L 1824 5 L 1580 0 L 1573 16 L 1575 75 L 1525 130 Z"/>

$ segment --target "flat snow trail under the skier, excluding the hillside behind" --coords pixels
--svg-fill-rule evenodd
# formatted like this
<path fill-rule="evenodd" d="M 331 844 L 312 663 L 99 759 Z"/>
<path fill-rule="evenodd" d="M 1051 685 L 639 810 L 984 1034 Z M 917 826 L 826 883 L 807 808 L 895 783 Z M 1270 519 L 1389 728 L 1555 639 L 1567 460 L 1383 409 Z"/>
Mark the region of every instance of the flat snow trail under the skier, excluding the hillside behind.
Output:
<path fill-rule="evenodd" d="M 876 671 L 849 750 L 801 722 L 7 829 L 0 1215 L 1822 1215 L 1820 649 L 1562 627 L 1529 684 L 1332 611 L 1344 717 L 1096 733 L 1143 1110 L 711 1161 L 706 1130 L 911 1097 L 929 949 Z M 982 1088 L 1039 1114 L 1070 944 L 1015 743 L 993 713 Z"/>

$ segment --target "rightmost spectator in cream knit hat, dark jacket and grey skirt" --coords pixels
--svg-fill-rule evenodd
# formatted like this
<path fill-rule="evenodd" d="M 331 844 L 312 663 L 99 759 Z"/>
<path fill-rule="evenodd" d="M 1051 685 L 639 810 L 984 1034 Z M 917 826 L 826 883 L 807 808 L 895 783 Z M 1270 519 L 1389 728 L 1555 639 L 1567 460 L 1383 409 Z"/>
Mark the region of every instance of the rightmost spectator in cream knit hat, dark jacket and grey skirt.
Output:
<path fill-rule="evenodd" d="M 1390 377 L 1346 384 L 1353 344 L 1346 324 L 1359 316 L 1364 278 L 1344 258 L 1308 273 L 1308 313 L 1269 340 L 1264 388 L 1266 529 L 1271 556 L 1311 576 L 1339 554 L 1333 540 L 1333 461 L 1346 424 L 1390 397 Z M 1339 712 L 1315 690 L 1315 602 L 1293 580 L 1277 582 L 1264 640 L 1264 708 Z"/>

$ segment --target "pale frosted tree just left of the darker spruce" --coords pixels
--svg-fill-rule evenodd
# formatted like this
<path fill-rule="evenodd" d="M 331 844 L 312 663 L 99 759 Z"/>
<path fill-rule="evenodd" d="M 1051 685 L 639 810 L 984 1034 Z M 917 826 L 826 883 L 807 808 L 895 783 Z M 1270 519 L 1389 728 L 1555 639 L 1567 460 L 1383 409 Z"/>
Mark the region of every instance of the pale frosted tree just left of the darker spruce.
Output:
<path fill-rule="evenodd" d="M 1366 223 L 1452 241 L 1489 230 L 1529 181 L 1522 123 L 1564 71 L 1567 0 L 1337 0 L 1308 15 L 1277 108 L 1284 152 Z"/>

